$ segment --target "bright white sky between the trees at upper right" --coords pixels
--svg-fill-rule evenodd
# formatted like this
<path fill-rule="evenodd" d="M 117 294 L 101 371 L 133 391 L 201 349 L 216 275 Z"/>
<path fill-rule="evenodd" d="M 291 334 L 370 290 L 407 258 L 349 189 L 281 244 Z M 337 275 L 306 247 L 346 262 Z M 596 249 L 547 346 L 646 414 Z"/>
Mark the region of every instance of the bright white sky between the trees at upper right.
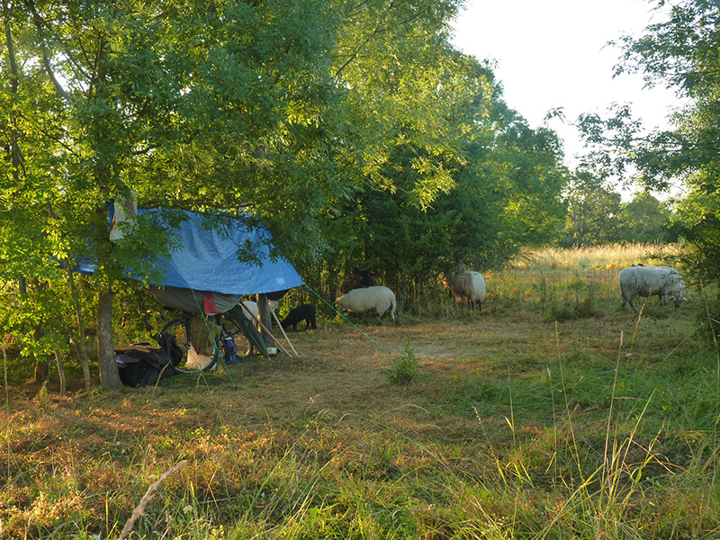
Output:
<path fill-rule="evenodd" d="M 455 23 L 455 47 L 493 69 L 505 102 L 532 128 L 563 107 L 575 120 L 582 112 L 606 112 L 611 103 L 632 103 L 645 127 L 665 127 L 679 101 L 665 88 L 644 89 L 642 75 L 613 78 L 621 51 L 606 46 L 622 35 L 638 37 L 662 15 L 646 0 L 467 0 Z M 547 124 L 564 141 L 565 162 L 583 152 L 577 131 L 560 120 Z"/>

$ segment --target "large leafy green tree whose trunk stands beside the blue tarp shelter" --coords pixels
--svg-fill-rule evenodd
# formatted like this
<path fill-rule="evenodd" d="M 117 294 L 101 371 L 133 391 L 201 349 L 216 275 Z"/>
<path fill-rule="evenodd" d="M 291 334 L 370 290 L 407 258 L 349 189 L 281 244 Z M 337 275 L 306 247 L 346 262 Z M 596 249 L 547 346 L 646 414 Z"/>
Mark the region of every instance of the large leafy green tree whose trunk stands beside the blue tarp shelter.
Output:
<path fill-rule="evenodd" d="M 304 216 L 339 191 L 326 137 L 341 94 L 325 54 L 335 21 L 311 0 L 4 4 L 18 66 L 3 99 L 14 122 L 4 127 L 13 143 L 3 200 L 17 201 L 4 224 L 35 225 L 14 229 L 7 251 L 41 237 L 47 247 L 34 257 L 96 261 L 103 388 L 121 386 L 112 344 L 121 269 L 171 245 L 167 229 L 144 222 L 111 245 L 108 202 L 134 189 L 146 204 L 242 208 L 311 230 Z"/>

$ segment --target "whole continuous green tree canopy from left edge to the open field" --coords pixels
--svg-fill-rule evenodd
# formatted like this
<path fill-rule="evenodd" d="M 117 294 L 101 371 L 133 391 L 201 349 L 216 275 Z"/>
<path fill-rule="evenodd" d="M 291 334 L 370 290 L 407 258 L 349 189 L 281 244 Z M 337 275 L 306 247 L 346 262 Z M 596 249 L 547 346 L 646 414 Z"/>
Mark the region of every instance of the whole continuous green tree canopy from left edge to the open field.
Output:
<path fill-rule="evenodd" d="M 428 281 L 455 258 L 496 266 L 552 238 L 560 145 L 509 109 L 489 65 L 450 44 L 461 6 L 4 3 L 0 257 L 23 299 L 4 310 L 9 328 L 28 323 L 21 311 L 44 313 L 30 317 L 40 333 L 78 324 L 73 294 L 38 309 L 40 293 L 71 286 L 58 259 L 93 259 L 76 301 L 97 310 L 103 386 L 118 387 L 113 294 L 137 288 L 121 269 L 131 261 L 147 280 L 174 247 L 171 222 L 139 220 L 109 242 L 107 205 L 130 193 L 242 212 L 308 272 L 372 267 L 389 284 Z M 67 348 L 62 335 L 35 354 Z"/>

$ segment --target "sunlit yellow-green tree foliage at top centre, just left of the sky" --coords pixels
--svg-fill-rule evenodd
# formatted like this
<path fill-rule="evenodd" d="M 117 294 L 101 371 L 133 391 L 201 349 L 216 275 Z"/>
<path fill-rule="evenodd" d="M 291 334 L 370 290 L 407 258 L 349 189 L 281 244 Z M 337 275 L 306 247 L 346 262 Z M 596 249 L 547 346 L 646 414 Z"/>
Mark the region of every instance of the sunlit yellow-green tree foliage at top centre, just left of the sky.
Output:
<path fill-rule="evenodd" d="M 347 88 L 347 129 L 338 158 L 354 174 L 349 185 L 394 189 L 395 148 L 414 148 L 409 189 L 421 208 L 453 184 L 458 124 L 477 79 L 465 78 L 464 58 L 449 44 L 460 0 L 341 0 L 342 21 L 332 51 L 334 74 Z M 448 166 L 450 169 L 448 169 Z"/>

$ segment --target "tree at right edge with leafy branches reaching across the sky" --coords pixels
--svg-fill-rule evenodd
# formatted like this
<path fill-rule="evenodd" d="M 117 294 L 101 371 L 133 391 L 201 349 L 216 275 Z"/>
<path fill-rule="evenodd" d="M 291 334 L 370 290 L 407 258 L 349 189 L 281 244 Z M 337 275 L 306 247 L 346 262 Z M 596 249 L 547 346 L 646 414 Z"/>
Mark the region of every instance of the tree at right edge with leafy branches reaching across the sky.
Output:
<path fill-rule="evenodd" d="M 673 129 L 641 132 L 629 107 L 608 119 L 588 115 L 581 125 L 590 141 L 608 151 L 604 163 L 623 170 L 636 167 L 640 181 L 665 190 L 677 179 L 688 195 L 673 218 L 673 231 L 695 247 L 689 263 L 706 281 L 720 282 L 720 12 L 716 2 L 680 0 L 667 18 L 648 26 L 640 37 L 619 40 L 617 74 L 642 73 L 647 85 L 668 85 L 687 103 L 673 115 Z"/>

